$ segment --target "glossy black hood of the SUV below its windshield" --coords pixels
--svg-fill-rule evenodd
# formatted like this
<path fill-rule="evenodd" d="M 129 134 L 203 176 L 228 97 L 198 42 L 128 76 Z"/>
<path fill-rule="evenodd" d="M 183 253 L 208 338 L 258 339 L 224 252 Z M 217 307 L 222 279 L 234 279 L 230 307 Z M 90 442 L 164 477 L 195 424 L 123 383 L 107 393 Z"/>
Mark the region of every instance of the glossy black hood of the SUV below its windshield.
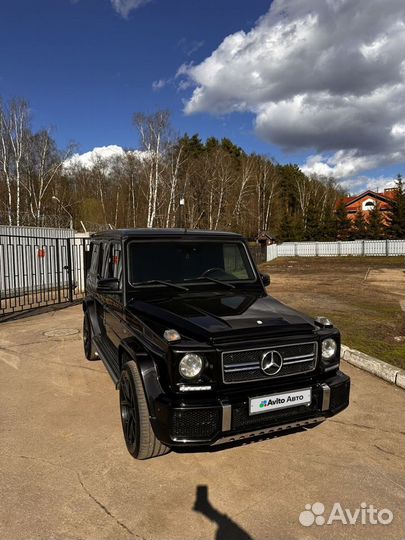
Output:
<path fill-rule="evenodd" d="M 133 301 L 128 309 L 145 322 L 174 328 L 193 338 L 228 334 L 265 335 L 312 333 L 313 320 L 271 296 L 229 291 Z"/>

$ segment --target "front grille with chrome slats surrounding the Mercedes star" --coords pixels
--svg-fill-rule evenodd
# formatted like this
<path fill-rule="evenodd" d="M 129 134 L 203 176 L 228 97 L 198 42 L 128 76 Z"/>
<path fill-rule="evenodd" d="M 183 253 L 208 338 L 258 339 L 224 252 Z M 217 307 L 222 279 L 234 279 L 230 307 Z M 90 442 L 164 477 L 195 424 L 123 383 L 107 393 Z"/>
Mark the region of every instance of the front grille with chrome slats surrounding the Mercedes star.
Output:
<path fill-rule="evenodd" d="M 264 354 L 276 351 L 283 365 L 275 375 L 267 375 L 261 369 Z M 273 347 L 248 349 L 222 353 L 222 369 L 224 383 L 241 383 L 262 379 L 275 379 L 288 375 L 298 375 L 313 371 L 316 367 L 317 343 L 292 343 Z"/>

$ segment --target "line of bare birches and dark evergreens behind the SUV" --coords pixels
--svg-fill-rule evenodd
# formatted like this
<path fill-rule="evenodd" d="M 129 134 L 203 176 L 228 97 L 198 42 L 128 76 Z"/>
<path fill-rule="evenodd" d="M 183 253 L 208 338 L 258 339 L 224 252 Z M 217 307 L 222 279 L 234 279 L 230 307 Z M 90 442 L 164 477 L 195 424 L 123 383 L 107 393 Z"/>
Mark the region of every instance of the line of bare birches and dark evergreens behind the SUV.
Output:
<path fill-rule="evenodd" d="M 352 234 L 334 178 L 307 176 L 226 138 L 178 136 L 168 111 L 132 121 L 138 151 L 66 166 L 73 146 L 62 151 L 49 130 L 34 132 L 24 100 L 0 101 L 0 222 L 206 228 L 250 238 L 265 230 L 279 241 Z"/>

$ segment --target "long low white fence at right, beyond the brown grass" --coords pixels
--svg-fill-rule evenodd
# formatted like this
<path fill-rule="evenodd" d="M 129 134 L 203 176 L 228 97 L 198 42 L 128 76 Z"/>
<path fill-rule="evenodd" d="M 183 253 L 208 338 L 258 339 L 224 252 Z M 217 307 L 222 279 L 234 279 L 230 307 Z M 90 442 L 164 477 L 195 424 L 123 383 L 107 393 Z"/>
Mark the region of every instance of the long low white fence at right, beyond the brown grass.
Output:
<path fill-rule="evenodd" d="M 339 257 L 405 255 L 405 240 L 354 240 L 348 242 L 284 242 L 267 247 L 267 260 L 277 257 Z"/>

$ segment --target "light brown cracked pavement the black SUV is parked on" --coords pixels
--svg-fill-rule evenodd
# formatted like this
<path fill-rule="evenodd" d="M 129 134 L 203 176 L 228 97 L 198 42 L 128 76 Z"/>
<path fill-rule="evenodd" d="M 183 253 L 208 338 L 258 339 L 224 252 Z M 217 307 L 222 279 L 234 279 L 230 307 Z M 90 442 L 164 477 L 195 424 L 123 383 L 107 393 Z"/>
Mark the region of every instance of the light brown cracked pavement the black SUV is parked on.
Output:
<path fill-rule="evenodd" d="M 109 375 L 83 356 L 81 325 L 81 306 L 0 324 L 2 540 L 404 537 L 400 388 L 343 363 L 351 404 L 313 430 L 140 462 Z M 394 517 L 304 527 L 316 502 L 325 516 L 366 503 Z"/>

